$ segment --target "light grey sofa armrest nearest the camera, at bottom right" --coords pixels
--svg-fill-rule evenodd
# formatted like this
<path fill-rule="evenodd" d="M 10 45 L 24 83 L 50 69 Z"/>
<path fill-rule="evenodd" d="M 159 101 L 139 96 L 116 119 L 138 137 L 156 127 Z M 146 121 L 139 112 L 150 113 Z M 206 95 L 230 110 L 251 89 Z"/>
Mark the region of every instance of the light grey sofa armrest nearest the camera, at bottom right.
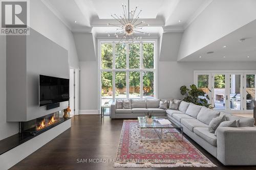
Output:
<path fill-rule="evenodd" d="M 217 158 L 224 165 L 256 165 L 256 127 L 217 128 Z"/>

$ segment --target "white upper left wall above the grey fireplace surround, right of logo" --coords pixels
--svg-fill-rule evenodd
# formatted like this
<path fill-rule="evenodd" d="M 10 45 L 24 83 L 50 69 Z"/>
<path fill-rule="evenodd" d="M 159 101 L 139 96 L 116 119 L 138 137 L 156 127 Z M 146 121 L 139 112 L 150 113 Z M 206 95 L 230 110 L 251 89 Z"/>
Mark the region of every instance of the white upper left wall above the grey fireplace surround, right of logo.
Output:
<path fill-rule="evenodd" d="M 40 0 L 30 1 L 31 28 L 68 50 L 69 65 L 78 68 L 75 41 L 69 28 Z"/>

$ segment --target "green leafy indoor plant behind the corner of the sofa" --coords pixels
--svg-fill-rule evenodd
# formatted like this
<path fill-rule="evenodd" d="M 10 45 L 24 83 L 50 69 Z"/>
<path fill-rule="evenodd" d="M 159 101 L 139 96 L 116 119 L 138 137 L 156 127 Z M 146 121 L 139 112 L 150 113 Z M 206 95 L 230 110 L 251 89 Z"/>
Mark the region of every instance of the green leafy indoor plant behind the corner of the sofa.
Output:
<path fill-rule="evenodd" d="M 183 99 L 185 102 L 212 108 L 210 107 L 211 104 L 208 103 L 208 100 L 210 100 L 209 95 L 203 90 L 198 89 L 195 84 L 190 85 L 190 89 L 188 89 L 186 86 L 181 86 L 180 93 L 185 95 L 185 98 Z"/>

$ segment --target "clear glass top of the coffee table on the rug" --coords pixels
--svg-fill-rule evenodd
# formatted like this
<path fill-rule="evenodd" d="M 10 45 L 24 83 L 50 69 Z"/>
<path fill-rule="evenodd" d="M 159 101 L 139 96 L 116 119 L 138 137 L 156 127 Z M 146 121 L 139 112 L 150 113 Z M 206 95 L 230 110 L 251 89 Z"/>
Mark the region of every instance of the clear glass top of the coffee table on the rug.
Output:
<path fill-rule="evenodd" d="M 182 129 L 182 127 L 176 123 L 174 123 L 172 120 L 170 120 L 168 117 L 166 116 L 161 116 L 161 117 L 155 117 L 153 116 L 153 123 L 152 124 L 147 124 L 146 122 L 146 118 L 145 116 L 143 117 L 138 117 L 138 124 L 140 126 L 140 128 L 153 128 L 153 129 L 166 129 L 166 128 L 178 128 L 178 129 Z M 157 119 L 157 118 L 165 118 L 165 119 L 168 119 L 170 121 L 170 123 L 172 124 L 169 124 L 169 125 L 161 125 L 160 123 L 156 122 L 154 119 Z"/>

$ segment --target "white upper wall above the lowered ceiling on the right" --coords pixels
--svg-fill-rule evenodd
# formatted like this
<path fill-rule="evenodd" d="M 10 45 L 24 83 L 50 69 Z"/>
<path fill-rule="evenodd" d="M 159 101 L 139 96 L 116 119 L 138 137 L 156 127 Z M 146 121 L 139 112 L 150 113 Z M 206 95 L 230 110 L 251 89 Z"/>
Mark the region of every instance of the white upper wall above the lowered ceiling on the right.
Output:
<path fill-rule="evenodd" d="M 256 19 L 255 6 L 255 0 L 213 1 L 185 30 L 178 61 Z"/>

